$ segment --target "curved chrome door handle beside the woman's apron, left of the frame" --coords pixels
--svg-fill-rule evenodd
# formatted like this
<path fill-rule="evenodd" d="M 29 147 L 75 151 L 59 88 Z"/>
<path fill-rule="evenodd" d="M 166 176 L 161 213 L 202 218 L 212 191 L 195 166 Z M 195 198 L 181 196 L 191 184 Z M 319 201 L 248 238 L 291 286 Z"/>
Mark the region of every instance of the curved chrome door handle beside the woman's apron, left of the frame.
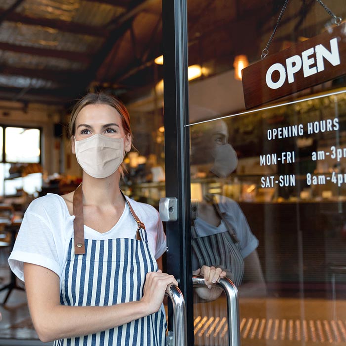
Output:
<path fill-rule="evenodd" d="M 172 301 L 173 332 L 169 331 L 166 337 L 166 346 L 187 346 L 186 307 L 185 300 L 179 287 L 170 284 L 166 295 Z"/>

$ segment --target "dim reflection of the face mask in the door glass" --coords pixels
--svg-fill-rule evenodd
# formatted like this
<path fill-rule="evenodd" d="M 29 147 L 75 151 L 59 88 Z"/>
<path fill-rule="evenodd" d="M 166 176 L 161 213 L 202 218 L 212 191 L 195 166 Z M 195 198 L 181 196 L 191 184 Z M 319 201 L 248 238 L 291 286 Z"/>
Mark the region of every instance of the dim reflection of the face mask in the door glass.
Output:
<path fill-rule="evenodd" d="M 230 144 L 215 147 L 211 154 L 214 158 L 214 165 L 210 171 L 218 177 L 226 178 L 237 168 L 237 153 Z"/>

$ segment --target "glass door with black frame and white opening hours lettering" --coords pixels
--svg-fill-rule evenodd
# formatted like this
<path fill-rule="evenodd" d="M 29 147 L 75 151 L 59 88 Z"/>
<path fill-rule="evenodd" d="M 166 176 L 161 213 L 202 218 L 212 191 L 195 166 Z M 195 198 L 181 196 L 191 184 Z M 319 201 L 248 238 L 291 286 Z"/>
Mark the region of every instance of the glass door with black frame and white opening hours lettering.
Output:
<path fill-rule="evenodd" d="M 189 345 L 228 345 L 224 293 L 192 288 L 203 265 L 238 287 L 241 345 L 346 343 L 345 74 L 246 110 L 238 73 L 284 2 L 163 1 L 166 195 L 179 208 L 167 269 Z M 345 1 L 325 6 L 346 17 Z M 291 0 L 269 54 L 333 26 L 317 1 Z"/>

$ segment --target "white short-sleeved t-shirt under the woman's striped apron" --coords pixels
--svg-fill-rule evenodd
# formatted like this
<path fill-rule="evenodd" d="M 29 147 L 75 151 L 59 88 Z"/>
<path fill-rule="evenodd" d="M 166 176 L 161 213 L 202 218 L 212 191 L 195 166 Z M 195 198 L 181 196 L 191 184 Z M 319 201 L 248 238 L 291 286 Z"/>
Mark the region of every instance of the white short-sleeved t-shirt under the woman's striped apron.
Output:
<path fill-rule="evenodd" d="M 166 251 L 166 235 L 157 210 L 145 203 L 127 200 L 144 223 L 149 248 L 158 259 Z M 59 277 L 67 260 L 68 245 L 73 238 L 73 220 L 64 199 L 56 194 L 35 199 L 24 214 L 13 251 L 8 258 L 11 270 L 24 281 L 23 263 L 43 266 L 55 272 Z M 105 233 L 84 226 L 85 239 L 135 239 L 137 223 L 125 205 L 118 222 Z"/>

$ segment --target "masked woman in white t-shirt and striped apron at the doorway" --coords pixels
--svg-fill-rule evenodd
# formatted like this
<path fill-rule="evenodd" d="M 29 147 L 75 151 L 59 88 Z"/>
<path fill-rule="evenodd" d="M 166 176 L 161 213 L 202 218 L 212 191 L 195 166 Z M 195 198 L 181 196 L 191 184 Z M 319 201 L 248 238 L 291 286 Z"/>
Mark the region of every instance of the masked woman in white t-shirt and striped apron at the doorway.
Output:
<path fill-rule="evenodd" d="M 164 345 L 162 301 L 178 283 L 158 269 L 166 237 L 157 211 L 119 190 L 129 114 L 113 97 L 88 94 L 69 129 L 83 183 L 34 200 L 9 257 L 34 327 L 54 345 Z"/>

